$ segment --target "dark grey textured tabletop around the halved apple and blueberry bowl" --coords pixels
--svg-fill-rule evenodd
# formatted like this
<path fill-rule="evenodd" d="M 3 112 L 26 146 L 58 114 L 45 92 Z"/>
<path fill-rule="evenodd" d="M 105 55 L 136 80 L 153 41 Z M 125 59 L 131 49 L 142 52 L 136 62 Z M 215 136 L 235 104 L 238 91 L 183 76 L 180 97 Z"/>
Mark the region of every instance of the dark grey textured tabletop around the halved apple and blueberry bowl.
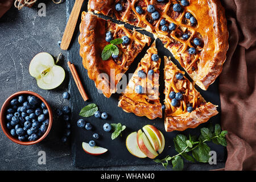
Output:
<path fill-rule="evenodd" d="M 0 19 L 0 105 L 10 94 L 20 90 L 30 90 L 46 98 L 53 111 L 69 101 L 63 100 L 62 93 L 68 89 L 68 76 L 59 88 L 42 90 L 36 85 L 36 80 L 28 73 L 28 65 L 32 57 L 39 52 L 49 52 L 53 56 L 67 51 L 61 51 L 57 42 L 64 32 L 66 18 L 66 3 L 55 5 L 52 1 L 46 3 L 46 17 L 37 14 L 37 4 L 28 9 L 18 11 L 14 7 Z M 67 72 L 67 63 L 61 63 Z M 68 74 L 67 74 L 68 75 Z M 80 170 L 72 166 L 71 144 L 60 141 L 63 131 L 63 121 L 54 118 L 52 129 L 39 144 L 20 146 L 11 142 L 0 130 L 0 170 Z M 75 121 L 72 122 L 74 125 Z M 38 152 L 46 151 L 46 165 L 38 164 Z M 224 163 L 210 166 L 209 164 L 185 164 L 187 170 L 208 170 L 224 167 Z M 87 170 L 165 170 L 161 165 L 127 166 L 109 168 L 88 168 Z"/>

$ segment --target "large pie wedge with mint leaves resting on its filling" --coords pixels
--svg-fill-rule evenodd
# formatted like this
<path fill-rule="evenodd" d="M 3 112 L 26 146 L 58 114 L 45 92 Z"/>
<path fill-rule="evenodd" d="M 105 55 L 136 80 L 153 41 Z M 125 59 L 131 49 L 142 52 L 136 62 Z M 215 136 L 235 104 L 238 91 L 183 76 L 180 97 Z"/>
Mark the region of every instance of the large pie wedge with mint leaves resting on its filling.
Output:
<path fill-rule="evenodd" d="M 129 42 L 118 44 L 119 55 L 110 56 L 108 60 L 102 60 L 101 53 L 109 42 L 106 42 L 106 34 L 111 34 L 113 39 L 127 36 Z M 97 89 L 110 97 L 115 93 L 115 88 L 122 75 L 129 69 L 135 57 L 142 51 L 146 44 L 149 46 L 151 39 L 137 31 L 131 31 L 123 25 L 110 20 L 98 18 L 90 13 L 82 12 L 80 24 L 80 56 L 82 64 L 88 71 L 88 76 L 95 82 Z"/>

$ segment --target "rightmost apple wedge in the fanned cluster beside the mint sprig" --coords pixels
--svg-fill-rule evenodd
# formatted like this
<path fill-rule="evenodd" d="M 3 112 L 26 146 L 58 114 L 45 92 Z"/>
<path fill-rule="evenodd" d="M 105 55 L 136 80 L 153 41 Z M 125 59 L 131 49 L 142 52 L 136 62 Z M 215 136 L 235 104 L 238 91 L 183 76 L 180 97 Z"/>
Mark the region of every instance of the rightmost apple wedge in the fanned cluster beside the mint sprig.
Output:
<path fill-rule="evenodd" d="M 152 125 L 146 125 L 143 128 L 144 133 L 146 134 L 148 140 L 151 143 L 151 146 L 155 151 L 158 151 L 162 147 L 162 136 L 160 131 Z"/>

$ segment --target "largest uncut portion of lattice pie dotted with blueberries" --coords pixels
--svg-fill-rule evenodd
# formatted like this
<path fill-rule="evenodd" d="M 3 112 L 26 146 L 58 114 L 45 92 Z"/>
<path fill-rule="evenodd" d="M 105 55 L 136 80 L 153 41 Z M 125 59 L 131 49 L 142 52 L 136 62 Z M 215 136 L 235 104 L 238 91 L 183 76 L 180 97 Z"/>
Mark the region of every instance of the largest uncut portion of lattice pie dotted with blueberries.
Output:
<path fill-rule="evenodd" d="M 203 90 L 222 71 L 229 34 L 219 0 L 89 0 L 88 10 L 152 32 Z"/>

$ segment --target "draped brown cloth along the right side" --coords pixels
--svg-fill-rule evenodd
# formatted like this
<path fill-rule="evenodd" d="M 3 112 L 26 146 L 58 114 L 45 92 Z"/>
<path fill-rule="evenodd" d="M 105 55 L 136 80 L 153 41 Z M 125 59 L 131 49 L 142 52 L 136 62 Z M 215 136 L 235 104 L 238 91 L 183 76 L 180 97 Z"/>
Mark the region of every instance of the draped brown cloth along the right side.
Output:
<path fill-rule="evenodd" d="M 222 0 L 229 50 L 220 75 L 221 127 L 228 130 L 225 170 L 256 170 L 256 1 Z"/>

